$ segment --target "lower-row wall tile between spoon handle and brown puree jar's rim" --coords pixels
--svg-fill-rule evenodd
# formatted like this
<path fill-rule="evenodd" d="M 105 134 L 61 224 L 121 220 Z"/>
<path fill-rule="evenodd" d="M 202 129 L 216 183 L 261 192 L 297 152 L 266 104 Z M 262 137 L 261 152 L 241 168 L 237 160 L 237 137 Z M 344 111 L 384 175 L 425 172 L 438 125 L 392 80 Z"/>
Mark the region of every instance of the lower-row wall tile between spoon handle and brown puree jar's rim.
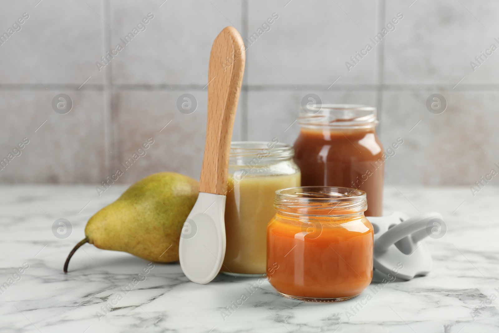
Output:
<path fill-rule="evenodd" d="M 293 144 L 299 133 L 296 121 L 301 99 L 310 91 L 251 91 L 248 98 L 248 139 Z M 366 91 L 317 92 L 323 103 L 374 105 L 375 93 Z"/>

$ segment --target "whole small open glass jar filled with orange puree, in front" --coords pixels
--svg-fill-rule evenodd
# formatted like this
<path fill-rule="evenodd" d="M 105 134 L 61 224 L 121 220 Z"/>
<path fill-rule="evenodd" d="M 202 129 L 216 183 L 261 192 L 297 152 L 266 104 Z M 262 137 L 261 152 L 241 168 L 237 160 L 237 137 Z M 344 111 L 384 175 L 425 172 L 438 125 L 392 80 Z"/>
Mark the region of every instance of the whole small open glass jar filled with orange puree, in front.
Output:
<path fill-rule="evenodd" d="M 363 191 L 308 186 L 276 191 L 267 226 L 267 277 L 283 296 L 335 302 L 358 296 L 373 275 L 374 231 Z"/>

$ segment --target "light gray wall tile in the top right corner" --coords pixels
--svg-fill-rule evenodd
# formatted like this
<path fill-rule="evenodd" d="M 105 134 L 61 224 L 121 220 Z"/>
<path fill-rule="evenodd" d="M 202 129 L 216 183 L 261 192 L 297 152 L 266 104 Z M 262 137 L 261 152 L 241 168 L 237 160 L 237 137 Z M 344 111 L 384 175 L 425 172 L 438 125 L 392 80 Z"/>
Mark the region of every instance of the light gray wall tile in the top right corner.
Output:
<path fill-rule="evenodd" d="M 498 83 L 499 50 L 473 71 L 475 56 L 499 47 L 499 4 L 471 0 L 387 0 L 386 18 L 404 18 L 385 37 L 384 80 L 388 84 Z M 485 25 L 485 27 L 484 27 Z M 416 83 L 415 83 L 416 82 Z"/>

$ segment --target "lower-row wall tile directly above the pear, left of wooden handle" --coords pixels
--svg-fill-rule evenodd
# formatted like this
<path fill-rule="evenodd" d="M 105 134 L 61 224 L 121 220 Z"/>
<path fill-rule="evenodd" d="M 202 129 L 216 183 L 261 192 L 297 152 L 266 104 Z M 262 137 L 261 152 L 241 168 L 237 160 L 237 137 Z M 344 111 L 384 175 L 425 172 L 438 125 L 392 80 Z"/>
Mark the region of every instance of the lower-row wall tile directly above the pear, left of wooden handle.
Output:
<path fill-rule="evenodd" d="M 115 168 L 124 163 L 149 138 L 154 144 L 140 157 L 119 182 L 133 183 L 160 171 L 174 171 L 199 180 L 206 139 L 206 90 L 185 91 L 194 95 L 198 107 L 194 113 L 183 114 L 176 106 L 184 92 L 122 91 L 114 94 L 115 140 L 118 154 Z M 237 118 L 240 110 L 237 111 Z M 167 127 L 163 127 L 168 124 Z M 161 132 L 160 132 L 161 131 Z M 235 126 L 233 139 L 240 139 L 241 129 Z"/>

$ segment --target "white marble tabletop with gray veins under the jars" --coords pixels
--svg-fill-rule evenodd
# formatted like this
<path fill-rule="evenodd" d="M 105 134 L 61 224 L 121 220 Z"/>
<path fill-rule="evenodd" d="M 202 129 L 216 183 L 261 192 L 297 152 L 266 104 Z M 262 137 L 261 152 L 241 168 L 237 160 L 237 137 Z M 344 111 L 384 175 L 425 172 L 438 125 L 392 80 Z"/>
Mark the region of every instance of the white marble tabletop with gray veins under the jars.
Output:
<path fill-rule="evenodd" d="M 346 312 L 362 296 L 303 303 L 265 281 L 225 320 L 224 309 L 256 279 L 221 275 L 201 286 L 178 263 L 155 264 L 133 285 L 148 262 L 88 244 L 62 273 L 88 218 L 124 187 L 98 197 L 91 186 L 21 186 L 0 187 L 0 285 L 13 282 L 0 289 L 0 332 L 499 332 L 499 188 L 491 185 L 475 197 L 469 188 L 387 185 L 385 213 L 439 211 L 447 234 L 427 238 L 427 277 L 387 284 L 353 318 Z M 66 239 L 52 234 L 59 218 L 73 226 Z"/>

